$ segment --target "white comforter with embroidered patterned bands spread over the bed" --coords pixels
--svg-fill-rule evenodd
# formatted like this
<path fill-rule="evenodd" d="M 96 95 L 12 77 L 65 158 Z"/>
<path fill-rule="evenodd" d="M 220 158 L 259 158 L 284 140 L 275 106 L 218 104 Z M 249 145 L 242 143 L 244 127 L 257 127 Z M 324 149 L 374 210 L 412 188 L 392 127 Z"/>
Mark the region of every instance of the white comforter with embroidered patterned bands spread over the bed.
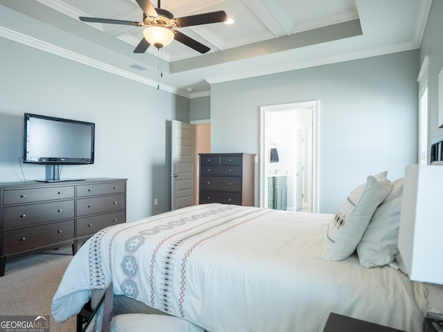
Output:
<path fill-rule="evenodd" d="M 356 256 L 318 259 L 331 214 L 196 205 L 98 232 L 55 293 L 63 322 L 94 288 L 183 317 L 208 331 L 321 331 L 331 312 L 421 331 L 426 291 Z"/>

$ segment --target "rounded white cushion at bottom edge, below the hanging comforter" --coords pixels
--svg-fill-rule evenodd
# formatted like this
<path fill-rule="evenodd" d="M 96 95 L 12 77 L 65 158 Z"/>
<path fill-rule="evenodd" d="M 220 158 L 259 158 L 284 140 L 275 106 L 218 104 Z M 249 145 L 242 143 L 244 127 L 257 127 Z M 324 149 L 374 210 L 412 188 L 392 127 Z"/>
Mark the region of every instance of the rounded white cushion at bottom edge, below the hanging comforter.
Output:
<path fill-rule="evenodd" d="M 169 315 L 125 313 L 112 317 L 111 332 L 204 332 L 201 327 Z"/>

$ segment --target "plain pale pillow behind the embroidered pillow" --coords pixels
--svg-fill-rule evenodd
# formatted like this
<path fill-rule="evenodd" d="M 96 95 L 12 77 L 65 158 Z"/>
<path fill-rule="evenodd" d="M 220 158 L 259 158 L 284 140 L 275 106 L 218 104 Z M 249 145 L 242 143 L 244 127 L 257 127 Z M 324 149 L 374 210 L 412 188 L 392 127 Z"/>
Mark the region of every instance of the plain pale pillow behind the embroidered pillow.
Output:
<path fill-rule="evenodd" d="M 401 197 L 381 204 L 357 246 L 361 266 L 374 268 L 390 264 L 398 254 Z"/>

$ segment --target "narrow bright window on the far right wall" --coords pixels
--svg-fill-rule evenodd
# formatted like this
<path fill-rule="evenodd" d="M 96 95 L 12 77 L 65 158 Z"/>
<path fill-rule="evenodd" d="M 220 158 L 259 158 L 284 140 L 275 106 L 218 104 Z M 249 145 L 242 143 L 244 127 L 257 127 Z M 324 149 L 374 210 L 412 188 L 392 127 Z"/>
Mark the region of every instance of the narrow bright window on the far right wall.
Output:
<path fill-rule="evenodd" d="M 418 119 L 418 162 L 428 163 L 428 56 L 423 60 L 418 75 L 419 84 L 419 119 Z"/>

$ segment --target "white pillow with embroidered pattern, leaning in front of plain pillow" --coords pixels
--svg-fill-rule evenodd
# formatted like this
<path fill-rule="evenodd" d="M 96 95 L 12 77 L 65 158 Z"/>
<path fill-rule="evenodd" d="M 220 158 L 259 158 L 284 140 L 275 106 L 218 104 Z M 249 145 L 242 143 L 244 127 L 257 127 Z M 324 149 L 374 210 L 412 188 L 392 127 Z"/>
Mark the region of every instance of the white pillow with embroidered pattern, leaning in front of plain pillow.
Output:
<path fill-rule="evenodd" d="M 327 227 L 320 259 L 341 261 L 355 251 L 377 206 L 392 190 L 388 172 L 368 176 L 341 205 Z"/>

